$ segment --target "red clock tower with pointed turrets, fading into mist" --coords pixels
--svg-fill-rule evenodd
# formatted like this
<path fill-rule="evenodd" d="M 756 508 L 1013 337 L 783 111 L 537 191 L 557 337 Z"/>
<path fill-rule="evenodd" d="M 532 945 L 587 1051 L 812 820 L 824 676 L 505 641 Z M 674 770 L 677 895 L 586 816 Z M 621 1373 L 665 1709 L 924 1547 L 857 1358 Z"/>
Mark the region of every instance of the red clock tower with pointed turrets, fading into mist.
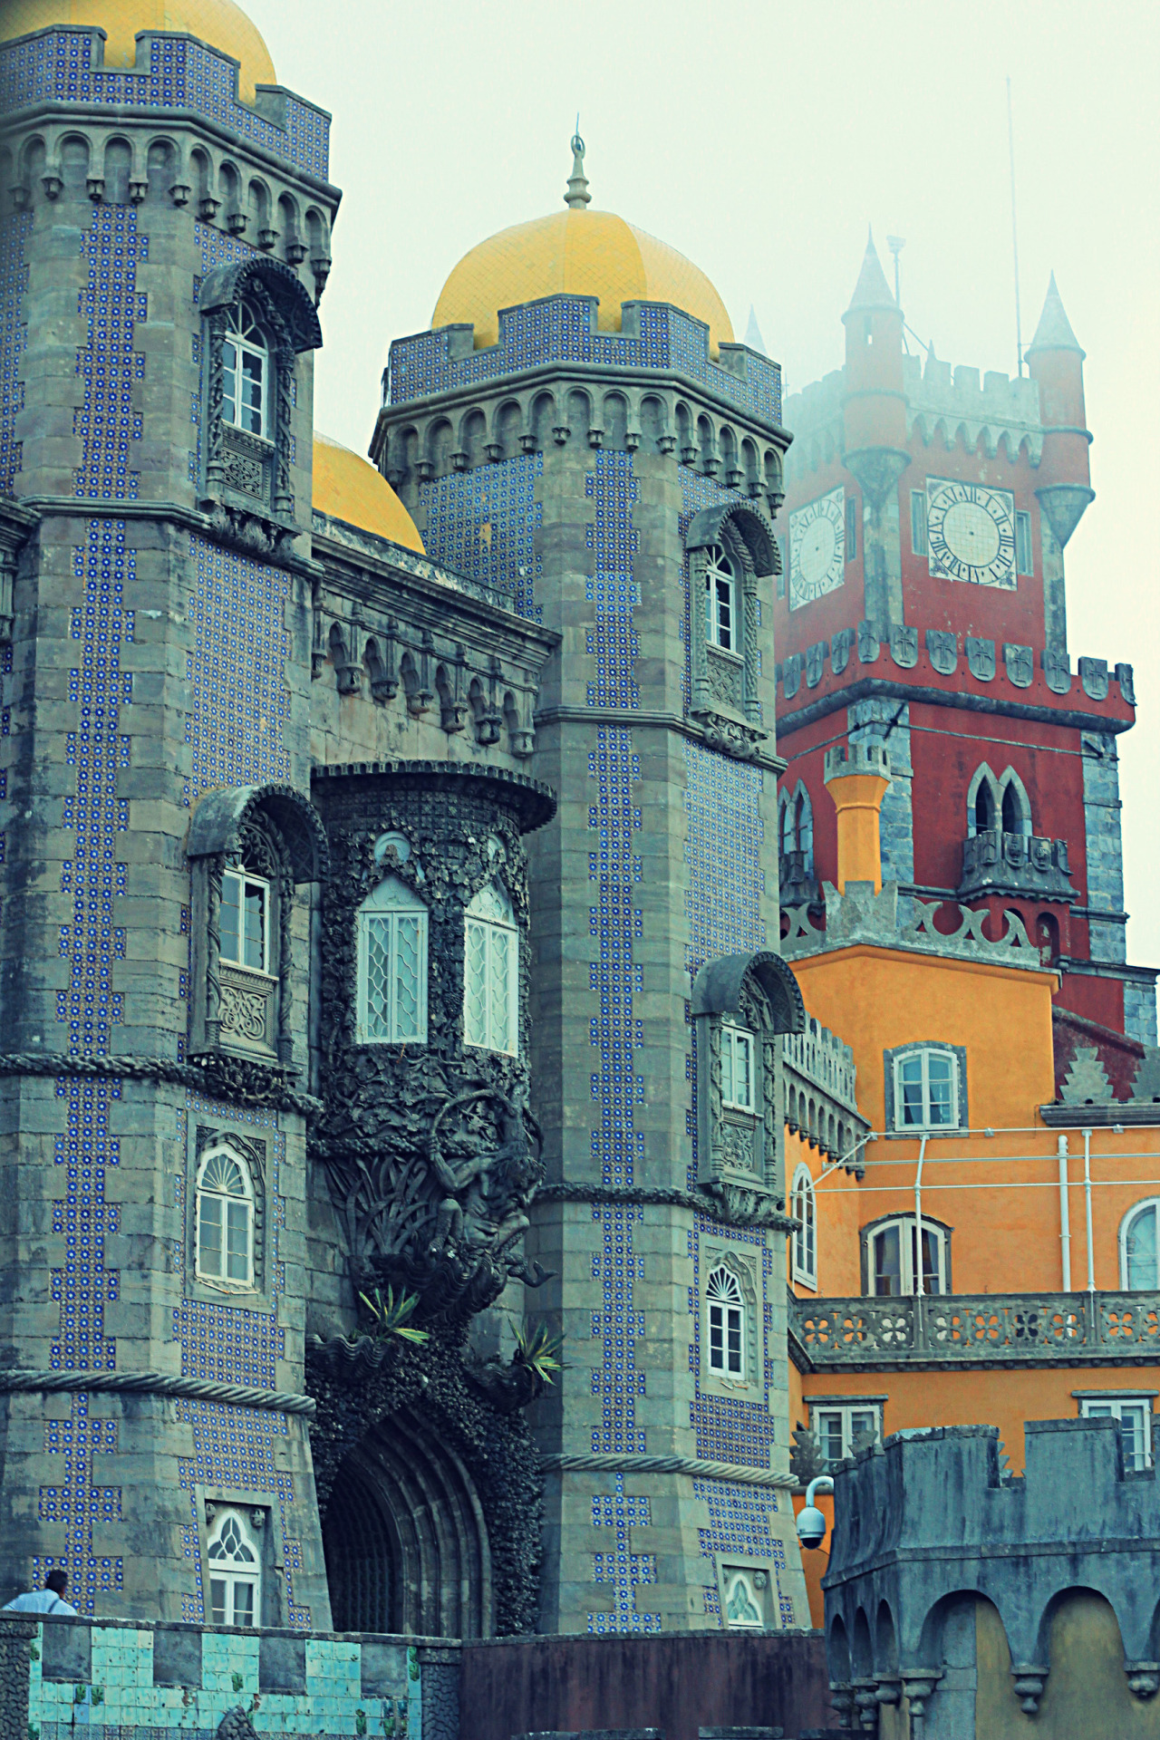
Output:
<path fill-rule="evenodd" d="M 1063 1023 L 1113 1070 L 1129 1035 L 1134 1068 L 1157 1014 L 1155 973 L 1125 959 L 1117 740 L 1132 666 L 1073 668 L 1068 652 L 1064 548 L 1092 499 L 1090 433 L 1056 280 L 1030 378 L 915 355 L 873 240 L 843 325 L 845 365 L 786 405 L 783 905 L 837 880 L 826 750 L 880 741 L 883 877 L 988 908 L 984 929 L 1017 912 L 1061 969 Z"/>

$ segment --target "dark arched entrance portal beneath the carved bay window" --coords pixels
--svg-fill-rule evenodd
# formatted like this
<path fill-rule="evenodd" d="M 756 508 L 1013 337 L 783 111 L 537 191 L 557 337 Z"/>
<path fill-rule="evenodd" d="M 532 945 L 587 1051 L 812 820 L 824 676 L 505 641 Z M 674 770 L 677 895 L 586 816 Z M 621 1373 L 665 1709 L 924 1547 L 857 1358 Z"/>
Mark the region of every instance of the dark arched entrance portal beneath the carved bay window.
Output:
<path fill-rule="evenodd" d="M 487 1522 L 471 1476 L 410 1413 L 346 1456 L 322 1522 L 336 1630 L 492 1636 Z"/>

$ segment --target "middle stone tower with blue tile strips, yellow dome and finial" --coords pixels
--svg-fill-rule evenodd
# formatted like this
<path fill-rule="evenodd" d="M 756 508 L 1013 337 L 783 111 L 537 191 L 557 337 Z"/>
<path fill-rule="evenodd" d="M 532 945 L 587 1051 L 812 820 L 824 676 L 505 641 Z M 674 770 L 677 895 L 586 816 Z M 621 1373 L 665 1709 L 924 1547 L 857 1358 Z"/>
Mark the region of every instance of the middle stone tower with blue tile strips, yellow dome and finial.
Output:
<path fill-rule="evenodd" d="M 565 209 L 395 341 L 374 458 L 430 555 L 560 635 L 534 773 L 529 1317 L 546 1630 L 807 1623 L 788 1479 L 772 515 L 781 372 L 711 284 Z M 518 1307 L 517 1307 L 518 1308 Z"/>

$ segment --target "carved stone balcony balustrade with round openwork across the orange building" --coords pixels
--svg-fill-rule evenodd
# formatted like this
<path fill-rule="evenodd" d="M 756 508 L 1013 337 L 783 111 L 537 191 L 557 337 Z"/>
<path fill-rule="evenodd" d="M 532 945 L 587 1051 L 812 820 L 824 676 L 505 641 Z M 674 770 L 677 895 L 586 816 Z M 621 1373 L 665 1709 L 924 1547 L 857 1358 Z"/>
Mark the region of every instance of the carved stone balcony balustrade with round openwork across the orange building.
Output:
<path fill-rule="evenodd" d="M 1160 1293 L 790 1298 L 802 1371 L 1160 1362 Z"/>

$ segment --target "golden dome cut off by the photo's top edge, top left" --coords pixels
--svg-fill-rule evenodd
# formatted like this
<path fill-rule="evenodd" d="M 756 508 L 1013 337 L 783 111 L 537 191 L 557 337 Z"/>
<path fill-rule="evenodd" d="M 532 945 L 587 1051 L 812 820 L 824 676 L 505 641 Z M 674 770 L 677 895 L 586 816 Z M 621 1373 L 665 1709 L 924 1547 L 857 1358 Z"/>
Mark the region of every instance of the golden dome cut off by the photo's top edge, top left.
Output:
<path fill-rule="evenodd" d="M 233 0 L 3 0 L 0 42 L 49 24 L 99 24 L 106 31 L 104 64 L 136 66 L 139 30 L 188 30 L 240 63 L 238 92 L 254 101 L 254 85 L 277 85 L 270 50 Z"/>

